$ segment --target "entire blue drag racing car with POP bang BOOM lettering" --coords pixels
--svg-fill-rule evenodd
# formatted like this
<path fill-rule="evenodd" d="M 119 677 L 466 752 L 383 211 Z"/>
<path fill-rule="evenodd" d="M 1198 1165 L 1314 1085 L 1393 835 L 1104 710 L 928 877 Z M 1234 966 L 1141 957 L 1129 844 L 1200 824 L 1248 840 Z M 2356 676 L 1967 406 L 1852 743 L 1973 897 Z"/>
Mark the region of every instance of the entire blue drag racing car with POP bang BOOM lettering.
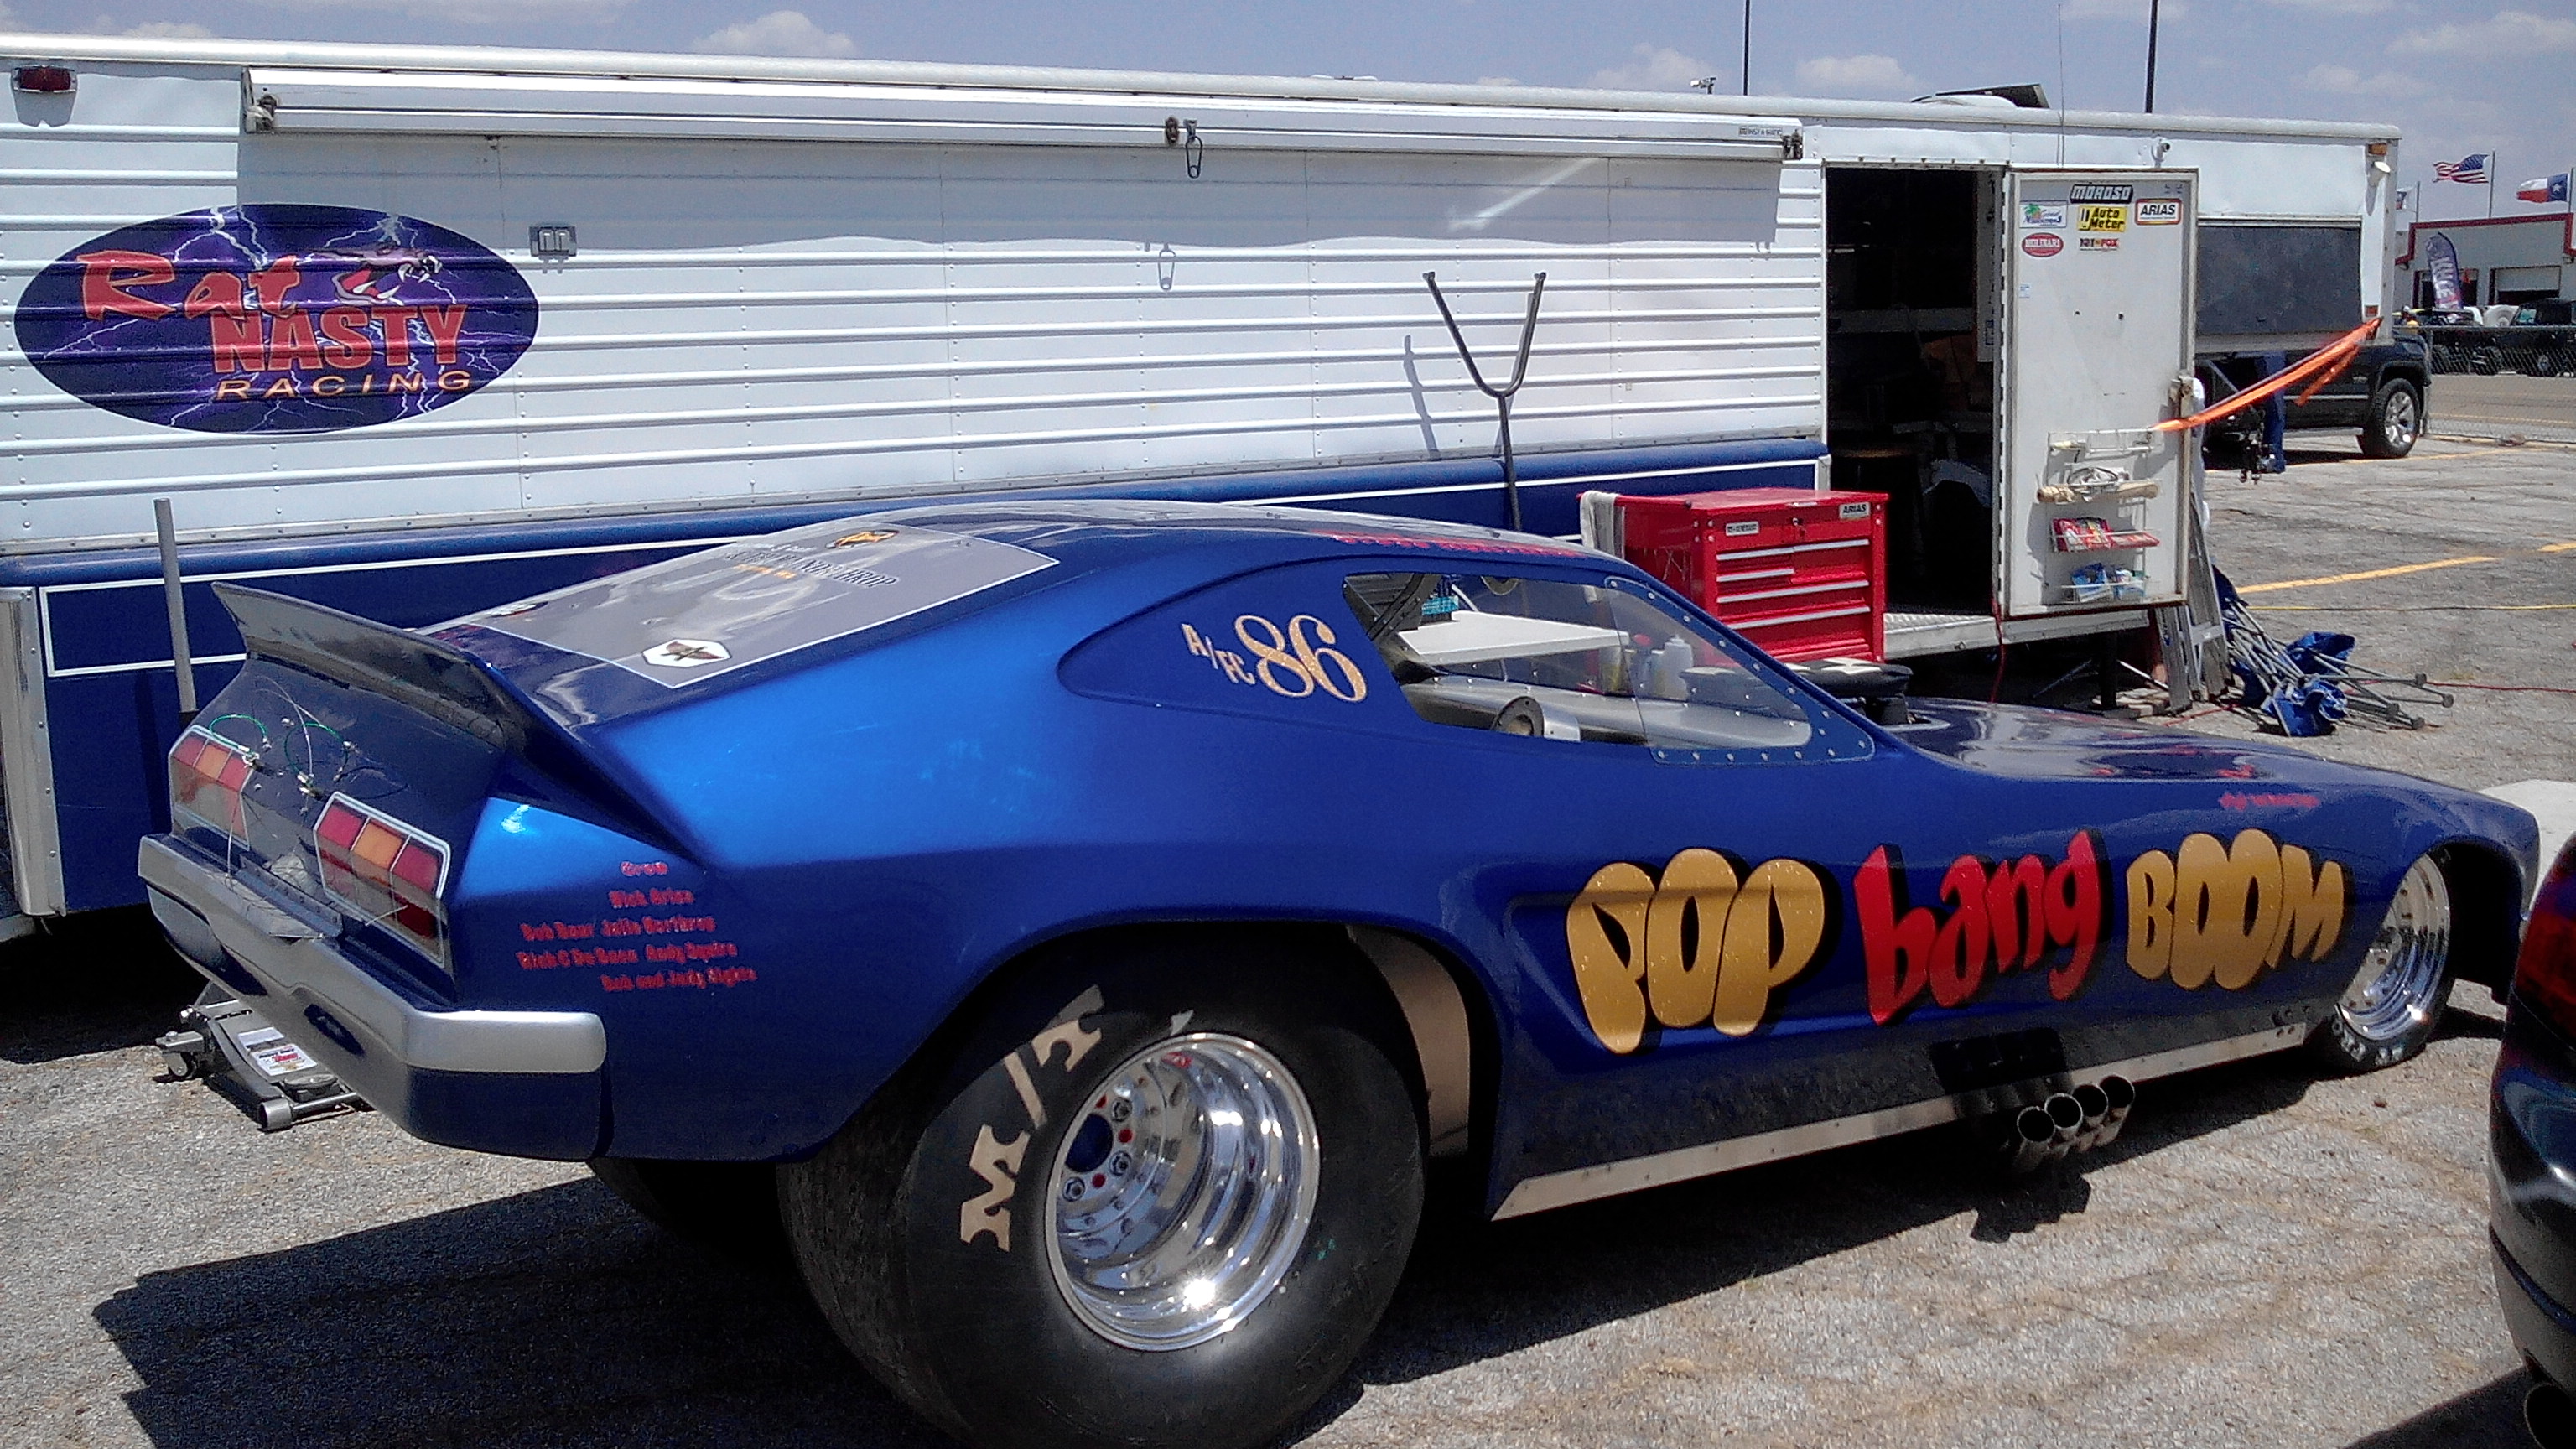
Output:
<path fill-rule="evenodd" d="M 979 1444 L 1252 1444 L 1497 1217 L 2133 1083 L 2416 1052 L 2532 820 L 2287 748 L 1880 724 L 1517 534 L 953 505 L 250 660 L 142 877 L 173 1062 L 270 1124 L 592 1160 L 783 1227 Z"/>

